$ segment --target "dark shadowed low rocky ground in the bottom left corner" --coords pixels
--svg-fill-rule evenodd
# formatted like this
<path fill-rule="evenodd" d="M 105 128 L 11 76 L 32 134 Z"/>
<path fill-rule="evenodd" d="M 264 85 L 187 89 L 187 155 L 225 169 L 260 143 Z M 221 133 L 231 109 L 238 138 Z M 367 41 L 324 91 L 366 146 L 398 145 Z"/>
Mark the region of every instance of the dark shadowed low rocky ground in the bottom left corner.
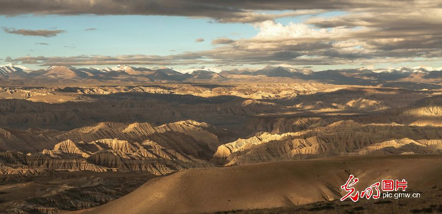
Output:
<path fill-rule="evenodd" d="M 0 210 L 4 213 L 55 214 L 88 209 L 135 190 L 152 176 L 129 172 L 58 170 L 33 176 L 32 179 L 15 178 L 0 186 L 1 197 L 10 199 L 0 203 Z"/>

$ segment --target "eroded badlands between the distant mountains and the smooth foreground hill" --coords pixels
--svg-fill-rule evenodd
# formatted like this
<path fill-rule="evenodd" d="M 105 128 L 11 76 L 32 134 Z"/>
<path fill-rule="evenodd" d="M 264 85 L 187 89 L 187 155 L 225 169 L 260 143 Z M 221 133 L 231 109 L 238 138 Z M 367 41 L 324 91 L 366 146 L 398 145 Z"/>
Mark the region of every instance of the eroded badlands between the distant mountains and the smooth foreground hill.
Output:
<path fill-rule="evenodd" d="M 191 168 L 440 156 L 441 94 L 316 83 L 3 87 L 0 211 L 86 209 Z M 126 175 L 140 180 L 116 178 Z"/>

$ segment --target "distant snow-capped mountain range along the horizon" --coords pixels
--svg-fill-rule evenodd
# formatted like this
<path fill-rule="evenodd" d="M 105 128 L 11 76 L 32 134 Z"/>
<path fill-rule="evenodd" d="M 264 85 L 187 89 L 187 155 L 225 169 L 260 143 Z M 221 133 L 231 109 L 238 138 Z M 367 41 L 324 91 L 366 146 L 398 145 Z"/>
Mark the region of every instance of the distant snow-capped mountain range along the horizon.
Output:
<path fill-rule="evenodd" d="M 266 66 L 262 69 L 221 69 L 201 67 L 180 70 L 172 68 L 144 68 L 117 65 L 108 68 L 75 68 L 52 66 L 31 70 L 8 64 L 0 66 L 0 83 L 3 85 L 53 85 L 53 84 L 142 84 L 179 82 L 299 82 L 314 81 L 331 84 L 378 85 L 392 82 L 430 83 L 440 85 L 442 67 L 419 66 L 395 69 L 337 69 L 313 71 L 308 68 Z"/>

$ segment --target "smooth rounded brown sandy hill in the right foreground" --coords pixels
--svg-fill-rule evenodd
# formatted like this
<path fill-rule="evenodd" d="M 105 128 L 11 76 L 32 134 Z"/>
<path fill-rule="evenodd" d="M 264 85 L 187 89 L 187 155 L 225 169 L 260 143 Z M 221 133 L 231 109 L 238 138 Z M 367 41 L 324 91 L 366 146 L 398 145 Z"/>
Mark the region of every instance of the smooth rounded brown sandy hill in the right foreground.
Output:
<path fill-rule="evenodd" d="M 150 180 L 90 213 L 212 213 L 331 201 L 344 193 L 349 173 L 360 179 L 358 190 L 398 178 L 415 192 L 440 185 L 441 168 L 441 156 L 379 156 L 191 169 Z"/>

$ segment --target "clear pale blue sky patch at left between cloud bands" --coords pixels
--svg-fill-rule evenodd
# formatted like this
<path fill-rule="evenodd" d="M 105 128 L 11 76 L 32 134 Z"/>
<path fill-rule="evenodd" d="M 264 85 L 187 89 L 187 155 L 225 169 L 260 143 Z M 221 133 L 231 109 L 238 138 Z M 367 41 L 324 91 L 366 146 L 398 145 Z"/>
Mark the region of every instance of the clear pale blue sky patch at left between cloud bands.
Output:
<path fill-rule="evenodd" d="M 213 39 L 249 38 L 257 33 L 250 24 L 219 24 L 208 19 L 174 16 L 0 16 L 1 27 L 59 29 L 55 37 L 23 36 L 0 31 L 0 58 L 77 55 L 169 55 L 212 48 Z M 88 28 L 95 30 L 86 31 Z M 195 42 L 203 38 L 204 42 Z M 38 45 L 36 43 L 47 43 Z M 3 63 L 5 63 L 3 61 Z M 33 67 L 33 65 L 28 65 Z M 34 65 L 35 66 L 35 65 Z"/>

